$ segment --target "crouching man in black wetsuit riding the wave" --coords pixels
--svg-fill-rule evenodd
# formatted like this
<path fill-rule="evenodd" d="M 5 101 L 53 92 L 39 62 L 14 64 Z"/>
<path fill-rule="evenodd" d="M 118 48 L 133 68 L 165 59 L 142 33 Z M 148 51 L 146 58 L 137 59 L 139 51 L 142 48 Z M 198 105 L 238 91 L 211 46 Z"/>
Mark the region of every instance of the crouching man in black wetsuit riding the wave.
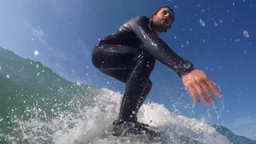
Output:
<path fill-rule="evenodd" d="M 175 54 L 159 38 L 159 34 L 169 30 L 174 22 L 174 10 L 160 7 L 151 18 L 137 16 L 125 22 L 113 34 L 99 40 L 94 46 L 92 62 L 103 74 L 126 83 L 118 119 L 113 122 L 113 135 L 141 134 L 146 124 L 138 122 L 136 114 L 152 82 L 150 74 L 158 60 L 174 70 L 199 104 L 198 95 L 206 105 L 214 103 L 211 92 L 222 98 L 218 86 L 202 70 L 194 68 L 192 62 Z"/>

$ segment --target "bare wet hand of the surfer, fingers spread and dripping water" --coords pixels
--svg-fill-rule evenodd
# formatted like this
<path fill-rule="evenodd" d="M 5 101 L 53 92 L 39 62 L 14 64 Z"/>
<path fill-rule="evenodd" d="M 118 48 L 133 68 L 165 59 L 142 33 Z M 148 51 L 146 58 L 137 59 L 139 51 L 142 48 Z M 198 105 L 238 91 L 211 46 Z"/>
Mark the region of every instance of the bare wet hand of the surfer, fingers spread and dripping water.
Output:
<path fill-rule="evenodd" d="M 197 93 L 200 95 L 202 102 L 206 105 L 208 105 L 209 102 L 214 104 L 214 97 L 211 94 L 211 91 L 213 91 L 218 98 L 222 98 L 222 94 L 219 92 L 217 84 L 212 82 L 202 70 L 192 70 L 183 75 L 182 82 L 184 86 L 186 86 L 186 90 L 193 96 L 194 102 L 197 104 L 200 103 Z"/>

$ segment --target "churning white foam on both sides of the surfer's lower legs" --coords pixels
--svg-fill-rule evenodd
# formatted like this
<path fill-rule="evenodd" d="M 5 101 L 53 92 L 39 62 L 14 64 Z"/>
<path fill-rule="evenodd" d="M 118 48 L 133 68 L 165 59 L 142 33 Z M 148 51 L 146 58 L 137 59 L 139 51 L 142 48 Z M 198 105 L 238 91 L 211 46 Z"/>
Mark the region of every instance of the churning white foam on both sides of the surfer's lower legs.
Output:
<path fill-rule="evenodd" d="M 56 144 L 83 144 L 90 140 L 92 140 L 90 143 L 95 144 L 146 143 L 146 141 L 139 138 L 116 138 L 110 134 L 112 122 L 118 116 L 120 102 L 121 94 L 102 89 L 101 93 L 95 97 L 94 107 L 79 109 L 80 117 L 74 118 L 72 114 L 60 114 L 59 118 L 55 118 L 51 122 L 40 122 L 31 119 L 30 122 L 19 122 L 20 130 L 23 131 L 22 135 L 26 136 L 26 139 L 29 139 L 30 142 L 37 142 L 40 138 L 47 139 L 46 135 L 48 135 Z M 138 121 L 158 127 L 159 130 L 169 131 L 170 134 L 175 133 L 194 138 L 202 143 L 230 143 L 227 138 L 218 134 L 206 122 L 171 114 L 169 110 L 158 103 L 144 104 L 138 112 Z M 70 124 L 75 126 L 70 128 Z M 26 131 L 30 131 L 30 134 Z M 33 133 L 38 131 L 42 134 L 36 135 Z"/>

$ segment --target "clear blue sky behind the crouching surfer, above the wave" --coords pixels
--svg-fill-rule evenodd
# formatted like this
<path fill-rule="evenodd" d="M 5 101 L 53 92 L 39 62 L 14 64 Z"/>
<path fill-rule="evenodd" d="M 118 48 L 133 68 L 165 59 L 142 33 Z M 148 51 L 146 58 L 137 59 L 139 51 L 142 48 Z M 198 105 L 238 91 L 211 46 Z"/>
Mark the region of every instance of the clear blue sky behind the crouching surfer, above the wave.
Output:
<path fill-rule="evenodd" d="M 91 50 L 130 18 L 150 17 L 160 6 L 175 14 L 172 29 L 160 37 L 216 82 L 223 98 L 214 97 L 215 108 L 195 105 L 177 74 L 157 62 L 148 99 L 174 114 L 204 118 L 256 139 L 254 0 L 2 0 L 0 46 L 72 82 L 123 93 L 123 83 L 94 68 Z"/>

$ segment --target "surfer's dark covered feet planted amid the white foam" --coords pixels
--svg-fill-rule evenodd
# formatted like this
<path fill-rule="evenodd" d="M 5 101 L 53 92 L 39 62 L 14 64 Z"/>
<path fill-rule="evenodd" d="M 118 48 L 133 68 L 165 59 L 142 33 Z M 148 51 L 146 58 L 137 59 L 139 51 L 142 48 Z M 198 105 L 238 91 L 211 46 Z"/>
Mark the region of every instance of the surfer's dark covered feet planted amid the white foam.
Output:
<path fill-rule="evenodd" d="M 149 130 L 144 123 L 141 122 L 113 122 L 114 128 L 112 134 L 114 136 L 126 136 L 127 134 L 149 134 L 152 137 L 160 137 L 160 133 Z"/>

